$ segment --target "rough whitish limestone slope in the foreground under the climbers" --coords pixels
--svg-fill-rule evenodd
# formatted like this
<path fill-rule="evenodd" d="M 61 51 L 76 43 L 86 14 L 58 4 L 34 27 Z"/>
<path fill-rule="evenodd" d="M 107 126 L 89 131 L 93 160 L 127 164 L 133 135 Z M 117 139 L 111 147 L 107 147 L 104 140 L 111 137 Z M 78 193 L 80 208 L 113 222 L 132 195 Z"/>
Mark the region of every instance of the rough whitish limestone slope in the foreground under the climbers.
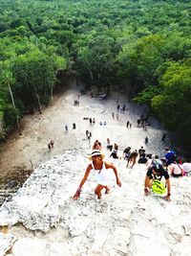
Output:
<path fill-rule="evenodd" d="M 109 152 L 108 152 L 109 154 Z M 107 156 L 106 156 L 107 159 Z M 144 197 L 145 165 L 117 165 L 111 193 L 96 199 L 91 174 L 81 197 L 72 196 L 87 166 L 87 152 L 66 151 L 37 168 L 0 208 L 0 255 L 188 256 L 191 248 L 191 177 L 171 178 L 172 197 Z M 10 249 L 11 248 L 11 249 Z"/>

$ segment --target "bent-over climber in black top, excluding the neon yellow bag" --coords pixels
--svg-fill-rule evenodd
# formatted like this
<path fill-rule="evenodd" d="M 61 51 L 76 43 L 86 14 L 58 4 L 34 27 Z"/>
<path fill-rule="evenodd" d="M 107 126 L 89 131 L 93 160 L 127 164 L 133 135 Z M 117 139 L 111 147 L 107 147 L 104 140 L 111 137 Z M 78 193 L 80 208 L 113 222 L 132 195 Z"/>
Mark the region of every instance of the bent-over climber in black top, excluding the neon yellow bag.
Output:
<path fill-rule="evenodd" d="M 170 186 L 170 176 L 168 175 L 168 172 L 165 171 L 162 167 L 162 165 L 157 161 L 153 161 L 151 167 L 148 169 L 147 174 L 145 176 L 144 180 L 144 195 L 148 196 L 150 194 L 150 190 L 152 190 L 152 184 L 155 180 L 161 180 L 162 176 L 165 178 L 165 183 L 167 186 L 167 195 L 165 196 L 166 200 L 170 199 L 170 192 L 171 192 L 171 186 Z"/>

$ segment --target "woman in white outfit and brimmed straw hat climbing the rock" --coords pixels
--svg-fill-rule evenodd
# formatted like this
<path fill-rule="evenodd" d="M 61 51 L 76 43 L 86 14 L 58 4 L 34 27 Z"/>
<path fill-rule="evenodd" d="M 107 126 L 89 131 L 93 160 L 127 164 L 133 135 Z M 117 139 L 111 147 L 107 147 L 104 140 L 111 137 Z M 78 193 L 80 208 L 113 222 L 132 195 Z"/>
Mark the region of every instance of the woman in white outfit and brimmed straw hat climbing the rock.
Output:
<path fill-rule="evenodd" d="M 110 183 L 110 177 L 111 177 L 111 169 L 113 169 L 116 179 L 117 179 L 117 185 L 120 187 L 121 182 L 118 178 L 117 174 L 117 168 L 111 163 L 103 161 L 103 158 L 105 155 L 99 151 L 99 150 L 94 150 L 92 151 L 91 156 L 89 157 L 89 160 L 91 160 L 91 163 L 88 165 L 85 175 L 83 176 L 79 187 L 77 188 L 75 194 L 74 194 L 74 199 L 79 198 L 80 192 L 82 189 L 82 186 L 86 182 L 88 176 L 90 175 L 91 171 L 93 171 L 96 175 L 96 181 L 97 181 L 97 186 L 95 189 L 95 194 L 98 199 L 101 198 L 101 191 L 105 189 L 105 193 L 108 194 L 110 189 L 109 189 L 109 183 Z"/>

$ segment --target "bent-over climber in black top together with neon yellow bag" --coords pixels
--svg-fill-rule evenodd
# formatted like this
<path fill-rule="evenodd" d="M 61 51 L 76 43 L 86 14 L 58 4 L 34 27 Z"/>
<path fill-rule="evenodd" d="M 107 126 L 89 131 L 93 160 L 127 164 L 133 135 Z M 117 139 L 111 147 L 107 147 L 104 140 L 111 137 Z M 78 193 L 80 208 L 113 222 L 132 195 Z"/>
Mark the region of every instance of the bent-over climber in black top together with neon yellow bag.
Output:
<path fill-rule="evenodd" d="M 162 177 L 165 178 L 165 185 L 160 182 Z M 144 195 L 148 196 L 150 192 L 163 195 L 166 193 L 166 186 L 167 195 L 164 198 L 169 200 L 171 196 L 171 186 L 168 172 L 163 169 L 159 161 L 155 160 L 148 169 L 144 179 Z"/>

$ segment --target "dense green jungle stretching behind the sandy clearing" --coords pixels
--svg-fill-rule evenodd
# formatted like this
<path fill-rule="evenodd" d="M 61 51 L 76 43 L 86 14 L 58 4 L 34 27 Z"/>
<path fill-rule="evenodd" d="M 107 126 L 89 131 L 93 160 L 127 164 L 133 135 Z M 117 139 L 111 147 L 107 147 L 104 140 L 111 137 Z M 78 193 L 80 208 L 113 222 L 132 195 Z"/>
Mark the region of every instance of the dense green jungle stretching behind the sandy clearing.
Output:
<path fill-rule="evenodd" d="M 72 74 L 112 85 L 191 150 L 189 0 L 0 0 L 0 137 Z"/>

